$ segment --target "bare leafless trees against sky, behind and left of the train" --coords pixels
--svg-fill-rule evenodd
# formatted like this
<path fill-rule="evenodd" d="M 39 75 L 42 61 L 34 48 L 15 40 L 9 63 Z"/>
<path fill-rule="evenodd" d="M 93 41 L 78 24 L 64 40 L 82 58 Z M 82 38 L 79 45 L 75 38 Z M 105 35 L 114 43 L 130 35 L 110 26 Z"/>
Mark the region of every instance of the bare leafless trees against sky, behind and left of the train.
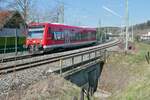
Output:
<path fill-rule="evenodd" d="M 41 11 L 38 8 L 39 3 L 37 3 L 37 0 L 0 0 L 0 10 L 18 11 L 27 23 L 44 21 L 58 22 L 61 13 L 60 5 L 57 4 L 54 8 L 47 7 Z"/>

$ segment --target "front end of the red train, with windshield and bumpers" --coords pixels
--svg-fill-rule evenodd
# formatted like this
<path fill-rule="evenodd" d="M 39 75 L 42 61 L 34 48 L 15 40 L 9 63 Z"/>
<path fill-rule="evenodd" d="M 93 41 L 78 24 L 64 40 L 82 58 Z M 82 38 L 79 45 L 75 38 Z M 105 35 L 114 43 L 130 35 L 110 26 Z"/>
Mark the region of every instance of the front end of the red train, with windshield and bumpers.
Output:
<path fill-rule="evenodd" d="M 43 25 L 31 25 L 28 29 L 26 48 L 30 53 L 43 53 L 43 37 L 44 37 Z"/>

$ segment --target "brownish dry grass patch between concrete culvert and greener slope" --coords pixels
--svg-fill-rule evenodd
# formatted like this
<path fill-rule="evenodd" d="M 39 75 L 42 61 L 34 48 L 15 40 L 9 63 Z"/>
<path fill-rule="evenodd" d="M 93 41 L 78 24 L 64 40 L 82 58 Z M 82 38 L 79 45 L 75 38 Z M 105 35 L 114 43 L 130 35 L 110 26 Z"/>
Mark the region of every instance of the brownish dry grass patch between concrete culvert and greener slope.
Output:
<path fill-rule="evenodd" d="M 125 55 L 113 54 L 105 64 L 101 80 L 100 89 L 112 93 L 121 91 L 129 81 L 134 78 L 128 70 L 128 63 L 124 62 Z"/>

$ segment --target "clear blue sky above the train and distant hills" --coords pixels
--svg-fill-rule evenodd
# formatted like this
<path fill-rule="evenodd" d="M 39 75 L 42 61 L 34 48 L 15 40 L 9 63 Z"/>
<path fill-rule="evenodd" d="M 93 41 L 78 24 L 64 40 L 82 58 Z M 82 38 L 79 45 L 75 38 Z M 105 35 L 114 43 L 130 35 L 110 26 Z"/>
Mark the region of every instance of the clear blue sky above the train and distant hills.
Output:
<path fill-rule="evenodd" d="M 38 5 L 55 7 L 60 0 L 39 0 Z M 120 26 L 123 18 L 106 11 L 103 6 L 112 9 L 119 15 L 125 15 L 125 0 L 61 0 L 65 4 L 65 23 L 70 25 L 92 26 Z M 130 24 L 145 22 L 150 19 L 150 0 L 129 0 Z"/>

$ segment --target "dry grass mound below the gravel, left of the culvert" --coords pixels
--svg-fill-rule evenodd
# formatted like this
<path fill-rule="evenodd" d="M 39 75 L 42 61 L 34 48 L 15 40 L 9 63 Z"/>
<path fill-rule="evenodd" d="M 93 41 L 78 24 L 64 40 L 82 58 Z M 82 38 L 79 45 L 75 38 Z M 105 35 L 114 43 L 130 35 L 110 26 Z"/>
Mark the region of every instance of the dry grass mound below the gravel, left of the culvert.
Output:
<path fill-rule="evenodd" d="M 58 76 L 49 76 L 29 86 L 27 89 L 16 89 L 4 96 L 2 100 L 72 100 L 79 97 L 80 89 Z"/>

